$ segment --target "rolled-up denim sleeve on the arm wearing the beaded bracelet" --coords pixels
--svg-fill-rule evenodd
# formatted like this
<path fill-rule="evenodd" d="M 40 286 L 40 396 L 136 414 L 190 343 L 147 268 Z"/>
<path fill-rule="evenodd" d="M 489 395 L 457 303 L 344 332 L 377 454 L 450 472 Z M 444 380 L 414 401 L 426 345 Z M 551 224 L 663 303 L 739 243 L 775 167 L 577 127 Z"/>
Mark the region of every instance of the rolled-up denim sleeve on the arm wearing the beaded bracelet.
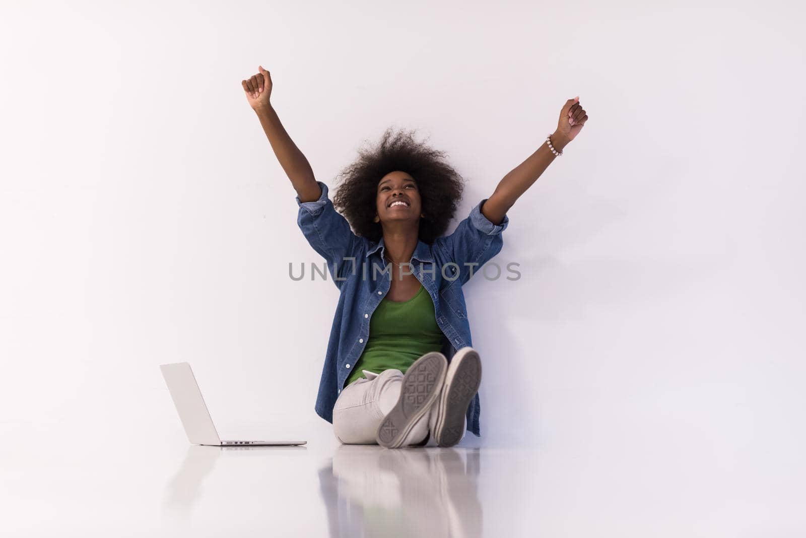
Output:
<path fill-rule="evenodd" d="M 488 198 L 471 209 L 470 214 L 456 226 L 454 232 L 437 240 L 438 245 L 454 263 L 459 265 L 459 282 L 466 283 L 471 274 L 480 271 L 504 246 L 502 233 L 509 225 L 509 216 L 504 215 L 501 224 L 493 224 L 481 207 Z"/>

